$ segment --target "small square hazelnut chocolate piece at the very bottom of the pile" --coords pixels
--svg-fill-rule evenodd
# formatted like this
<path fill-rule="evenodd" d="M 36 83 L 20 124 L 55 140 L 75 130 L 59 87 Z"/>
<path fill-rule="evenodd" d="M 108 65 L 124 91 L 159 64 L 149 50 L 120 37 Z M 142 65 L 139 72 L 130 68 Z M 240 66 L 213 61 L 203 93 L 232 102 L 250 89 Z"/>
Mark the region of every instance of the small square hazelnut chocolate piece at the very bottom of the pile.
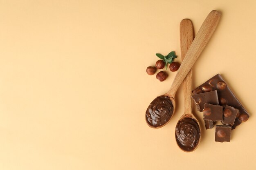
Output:
<path fill-rule="evenodd" d="M 231 126 L 227 125 L 216 125 L 215 130 L 215 141 L 224 142 L 230 141 Z"/>

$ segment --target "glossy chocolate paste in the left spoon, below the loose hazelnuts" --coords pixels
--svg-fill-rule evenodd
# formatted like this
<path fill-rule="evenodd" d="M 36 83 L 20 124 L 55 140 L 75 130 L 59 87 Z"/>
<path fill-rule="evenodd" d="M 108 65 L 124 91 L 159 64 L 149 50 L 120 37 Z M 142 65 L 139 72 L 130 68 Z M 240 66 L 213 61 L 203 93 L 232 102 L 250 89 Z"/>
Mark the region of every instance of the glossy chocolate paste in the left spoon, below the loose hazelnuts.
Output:
<path fill-rule="evenodd" d="M 155 98 L 146 111 L 146 121 L 150 126 L 164 125 L 173 115 L 173 104 L 168 96 Z"/>

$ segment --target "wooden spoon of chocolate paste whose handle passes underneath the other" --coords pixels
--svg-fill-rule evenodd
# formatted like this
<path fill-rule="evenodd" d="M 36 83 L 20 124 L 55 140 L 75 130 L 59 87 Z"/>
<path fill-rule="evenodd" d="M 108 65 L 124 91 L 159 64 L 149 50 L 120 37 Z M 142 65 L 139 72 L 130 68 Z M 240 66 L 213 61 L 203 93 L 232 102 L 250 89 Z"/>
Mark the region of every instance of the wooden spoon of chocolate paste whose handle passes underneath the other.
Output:
<path fill-rule="evenodd" d="M 184 59 L 189 46 L 193 42 L 193 25 L 191 20 L 184 19 L 180 22 L 180 51 L 181 60 Z M 181 150 L 185 152 L 194 151 L 201 139 L 201 128 L 198 120 L 192 113 L 191 108 L 191 80 L 192 69 L 186 75 L 183 81 L 183 93 L 184 93 L 184 115 L 180 117 L 176 128 L 175 138 L 177 145 Z"/>

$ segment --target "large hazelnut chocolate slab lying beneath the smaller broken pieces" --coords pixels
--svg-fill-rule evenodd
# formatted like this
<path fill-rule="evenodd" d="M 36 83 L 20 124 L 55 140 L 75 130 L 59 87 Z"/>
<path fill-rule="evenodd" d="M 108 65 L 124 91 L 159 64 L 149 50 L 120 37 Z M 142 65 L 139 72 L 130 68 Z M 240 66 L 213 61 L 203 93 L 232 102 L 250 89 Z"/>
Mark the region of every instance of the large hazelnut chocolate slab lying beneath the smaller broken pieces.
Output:
<path fill-rule="evenodd" d="M 193 94 L 206 93 L 206 92 L 209 93 L 209 91 L 214 91 L 214 90 L 217 90 L 218 92 L 220 105 L 222 106 L 229 105 L 239 110 L 239 113 L 235 119 L 232 129 L 235 129 L 236 126 L 238 126 L 242 122 L 247 121 L 247 119 L 249 118 L 249 114 L 247 113 L 245 108 L 238 101 L 234 93 L 229 89 L 229 87 L 227 86 L 227 84 L 219 74 L 213 76 L 207 82 L 195 88 L 195 90 L 193 90 L 192 93 Z"/>

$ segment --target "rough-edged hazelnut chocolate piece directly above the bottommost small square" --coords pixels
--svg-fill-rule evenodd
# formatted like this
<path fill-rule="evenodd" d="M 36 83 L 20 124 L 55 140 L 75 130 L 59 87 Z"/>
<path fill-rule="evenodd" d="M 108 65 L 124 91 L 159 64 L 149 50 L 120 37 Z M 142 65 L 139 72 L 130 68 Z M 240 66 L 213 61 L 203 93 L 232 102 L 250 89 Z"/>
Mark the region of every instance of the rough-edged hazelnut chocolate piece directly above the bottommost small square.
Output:
<path fill-rule="evenodd" d="M 223 121 L 222 124 L 225 125 L 233 125 L 236 119 L 236 115 L 239 113 L 239 110 L 226 105 L 225 109 L 223 110 Z"/>

